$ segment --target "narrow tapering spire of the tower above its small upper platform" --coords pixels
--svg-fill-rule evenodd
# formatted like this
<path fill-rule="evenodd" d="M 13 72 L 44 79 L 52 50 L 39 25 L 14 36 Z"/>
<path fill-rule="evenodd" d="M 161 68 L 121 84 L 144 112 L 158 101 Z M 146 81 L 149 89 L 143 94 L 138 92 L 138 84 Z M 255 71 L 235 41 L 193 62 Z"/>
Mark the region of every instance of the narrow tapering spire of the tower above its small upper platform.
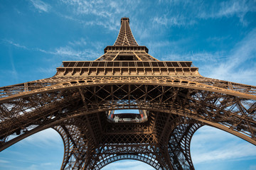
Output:
<path fill-rule="evenodd" d="M 129 18 L 121 18 L 121 28 L 114 46 L 139 46 L 129 27 Z"/>

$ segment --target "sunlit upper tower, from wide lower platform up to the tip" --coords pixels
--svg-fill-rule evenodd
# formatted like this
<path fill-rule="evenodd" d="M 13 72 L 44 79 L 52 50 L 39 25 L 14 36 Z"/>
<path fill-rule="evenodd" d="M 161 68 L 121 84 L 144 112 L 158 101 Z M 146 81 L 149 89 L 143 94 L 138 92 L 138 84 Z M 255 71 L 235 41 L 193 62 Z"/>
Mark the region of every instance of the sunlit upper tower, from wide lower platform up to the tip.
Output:
<path fill-rule="evenodd" d="M 134 39 L 129 18 L 122 18 L 117 40 L 114 45 L 105 47 L 104 55 L 93 62 L 65 61 L 57 68 L 55 76 L 200 76 L 192 62 L 161 62 L 148 51 Z"/>

